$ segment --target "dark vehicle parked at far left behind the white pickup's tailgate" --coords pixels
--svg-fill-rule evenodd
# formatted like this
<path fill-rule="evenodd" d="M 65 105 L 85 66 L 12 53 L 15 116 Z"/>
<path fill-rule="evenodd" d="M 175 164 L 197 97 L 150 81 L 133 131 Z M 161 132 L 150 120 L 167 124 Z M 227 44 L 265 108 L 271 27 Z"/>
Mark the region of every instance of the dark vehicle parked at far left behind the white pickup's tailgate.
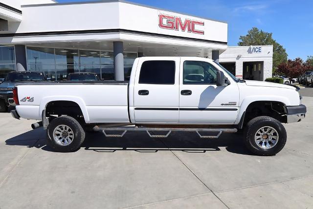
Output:
<path fill-rule="evenodd" d="M 0 84 L 0 112 L 6 112 L 9 105 L 15 106 L 12 90 L 20 84 L 46 81 L 45 73 L 35 71 L 9 72 Z"/>

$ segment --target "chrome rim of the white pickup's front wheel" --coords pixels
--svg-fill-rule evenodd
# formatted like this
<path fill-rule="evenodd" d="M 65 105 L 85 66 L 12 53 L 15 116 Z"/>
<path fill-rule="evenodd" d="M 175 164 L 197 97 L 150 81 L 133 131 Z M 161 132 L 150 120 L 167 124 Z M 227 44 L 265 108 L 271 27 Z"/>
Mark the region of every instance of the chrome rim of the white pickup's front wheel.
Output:
<path fill-rule="evenodd" d="M 254 137 L 255 143 L 262 149 L 273 148 L 279 139 L 276 129 L 270 126 L 260 128 Z"/>

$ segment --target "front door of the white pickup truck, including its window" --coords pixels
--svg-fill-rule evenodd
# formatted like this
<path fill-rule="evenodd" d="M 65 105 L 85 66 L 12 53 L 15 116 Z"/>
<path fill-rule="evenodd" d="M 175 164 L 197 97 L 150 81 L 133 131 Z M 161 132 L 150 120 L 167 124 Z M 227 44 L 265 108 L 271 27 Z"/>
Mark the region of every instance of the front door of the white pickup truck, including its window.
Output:
<path fill-rule="evenodd" d="M 216 86 L 217 68 L 206 61 L 180 60 L 179 122 L 195 124 L 232 124 L 238 114 L 239 89 L 230 85 Z"/>

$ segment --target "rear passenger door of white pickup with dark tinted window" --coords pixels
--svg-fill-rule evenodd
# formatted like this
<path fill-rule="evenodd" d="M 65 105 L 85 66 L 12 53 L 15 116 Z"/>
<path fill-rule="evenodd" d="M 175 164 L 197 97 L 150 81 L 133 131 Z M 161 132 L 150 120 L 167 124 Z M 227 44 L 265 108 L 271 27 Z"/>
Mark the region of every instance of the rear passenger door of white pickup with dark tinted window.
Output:
<path fill-rule="evenodd" d="M 179 63 L 179 58 L 140 58 L 134 84 L 136 122 L 179 122 Z"/>

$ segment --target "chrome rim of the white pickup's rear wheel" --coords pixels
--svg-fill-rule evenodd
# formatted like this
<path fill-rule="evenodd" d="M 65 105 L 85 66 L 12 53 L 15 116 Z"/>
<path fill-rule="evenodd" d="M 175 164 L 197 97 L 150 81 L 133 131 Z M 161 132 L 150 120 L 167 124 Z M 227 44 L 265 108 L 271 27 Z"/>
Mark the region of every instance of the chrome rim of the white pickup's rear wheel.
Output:
<path fill-rule="evenodd" d="M 53 130 L 53 139 L 57 144 L 67 146 L 72 143 L 74 133 L 67 125 L 59 125 Z"/>

